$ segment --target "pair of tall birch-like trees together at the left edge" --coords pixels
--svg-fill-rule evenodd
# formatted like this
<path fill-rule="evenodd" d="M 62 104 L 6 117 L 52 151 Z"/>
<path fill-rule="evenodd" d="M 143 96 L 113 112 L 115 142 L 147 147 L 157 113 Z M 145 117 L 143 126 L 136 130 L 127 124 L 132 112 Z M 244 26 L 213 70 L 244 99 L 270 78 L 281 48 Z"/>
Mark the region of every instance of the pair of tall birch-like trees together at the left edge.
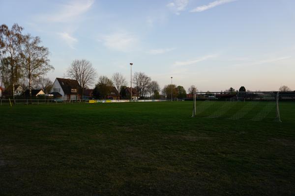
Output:
<path fill-rule="evenodd" d="M 0 25 L 0 77 L 1 84 L 11 91 L 14 98 L 15 85 L 23 79 L 28 82 L 29 95 L 32 87 L 42 87 L 45 91 L 51 85 L 44 76 L 54 67 L 50 65 L 49 50 L 41 45 L 41 39 L 23 34 L 18 24 L 9 28 Z"/>

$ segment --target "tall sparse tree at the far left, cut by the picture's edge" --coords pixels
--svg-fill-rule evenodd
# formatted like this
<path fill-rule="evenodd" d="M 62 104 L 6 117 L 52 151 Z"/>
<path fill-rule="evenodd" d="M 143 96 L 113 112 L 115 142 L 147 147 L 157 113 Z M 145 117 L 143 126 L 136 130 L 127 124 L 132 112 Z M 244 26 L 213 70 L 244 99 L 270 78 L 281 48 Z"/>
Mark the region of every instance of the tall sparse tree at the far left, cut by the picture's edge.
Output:
<path fill-rule="evenodd" d="M 2 69 L 9 70 L 9 82 L 14 99 L 14 86 L 20 78 L 20 51 L 23 42 L 23 27 L 14 24 L 9 29 L 7 25 L 0 25 L 0 54 Z"/>

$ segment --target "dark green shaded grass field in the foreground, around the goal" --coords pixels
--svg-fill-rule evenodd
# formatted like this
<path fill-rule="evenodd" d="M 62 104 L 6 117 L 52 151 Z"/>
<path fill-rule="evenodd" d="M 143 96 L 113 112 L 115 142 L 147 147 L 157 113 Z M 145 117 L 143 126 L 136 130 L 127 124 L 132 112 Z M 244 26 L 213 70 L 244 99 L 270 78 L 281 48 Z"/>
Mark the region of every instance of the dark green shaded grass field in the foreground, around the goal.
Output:
<path fill-rule="evenodd" d="M 192 102 L 0 107 L 0 195 L 295 194 L 283 123 L 191 118 Z"/>

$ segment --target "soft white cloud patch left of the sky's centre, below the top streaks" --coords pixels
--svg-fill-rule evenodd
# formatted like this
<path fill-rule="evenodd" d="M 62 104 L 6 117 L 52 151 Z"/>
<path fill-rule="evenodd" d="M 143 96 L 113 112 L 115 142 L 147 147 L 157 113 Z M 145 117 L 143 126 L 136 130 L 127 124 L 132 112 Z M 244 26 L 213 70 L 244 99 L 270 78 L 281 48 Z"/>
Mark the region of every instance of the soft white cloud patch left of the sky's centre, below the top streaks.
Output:
<path fill-rule="evenodd" d="M 108 49 L 129 52 L 137 48 L 139 39 L 136 35 L 128 32 L 116 32 L 102 36 L 98 41 L 103 42 Z"/>

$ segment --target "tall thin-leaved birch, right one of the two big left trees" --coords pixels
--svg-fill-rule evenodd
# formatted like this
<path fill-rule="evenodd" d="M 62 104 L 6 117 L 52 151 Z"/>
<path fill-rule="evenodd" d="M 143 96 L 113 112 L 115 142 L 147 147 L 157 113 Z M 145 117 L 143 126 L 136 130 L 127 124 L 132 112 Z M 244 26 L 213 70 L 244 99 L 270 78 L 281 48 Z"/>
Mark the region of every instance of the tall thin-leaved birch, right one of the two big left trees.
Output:
<path fill-rule="evenodd" d="M 24 36 L 22 51 L 21 67 L 24 77 L 29 79 L 29 97 L 32 96 L 32 81 L 40 75 L 54 70 L 48 59 L 49 50 L 44 46 L 40 46 L 41 40 L 39 37 L 32 37 L 29 34 Z"/>

